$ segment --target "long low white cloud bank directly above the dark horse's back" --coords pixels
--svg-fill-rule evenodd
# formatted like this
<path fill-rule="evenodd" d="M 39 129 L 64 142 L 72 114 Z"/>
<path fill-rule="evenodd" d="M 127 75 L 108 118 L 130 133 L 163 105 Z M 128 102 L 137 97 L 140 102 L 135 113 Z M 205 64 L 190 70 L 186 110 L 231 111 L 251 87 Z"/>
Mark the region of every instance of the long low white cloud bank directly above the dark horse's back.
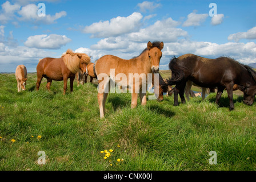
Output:
<path fill-rule="evenodd" d="M 244 64 L 256 62 L 256 44 L 254 42 L 217 44 L 183 39 L 174 43 L 166 43 L 165 48 L 163 55 L 169 57 L 169 59 L 174 55 L 177 57 L 185 53 L 194 53 L 209 58 L 231 56 Z"/>

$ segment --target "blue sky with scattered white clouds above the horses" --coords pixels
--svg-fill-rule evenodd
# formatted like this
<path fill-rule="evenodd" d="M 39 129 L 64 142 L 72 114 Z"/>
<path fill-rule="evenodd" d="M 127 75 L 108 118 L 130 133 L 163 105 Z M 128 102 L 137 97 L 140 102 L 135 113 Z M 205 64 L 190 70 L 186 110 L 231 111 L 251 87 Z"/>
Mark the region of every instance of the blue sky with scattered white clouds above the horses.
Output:
<path fill-rule="evenodd" d="M 69 48 L 92 62 L 131 59 L 149 41 L 164 43 L 160 69 L 185 53 L 256 63 L 255 7 L 254 0 L 0 0 L 0 72 L 20 64 L 36 72 L 39 59 Z"/>

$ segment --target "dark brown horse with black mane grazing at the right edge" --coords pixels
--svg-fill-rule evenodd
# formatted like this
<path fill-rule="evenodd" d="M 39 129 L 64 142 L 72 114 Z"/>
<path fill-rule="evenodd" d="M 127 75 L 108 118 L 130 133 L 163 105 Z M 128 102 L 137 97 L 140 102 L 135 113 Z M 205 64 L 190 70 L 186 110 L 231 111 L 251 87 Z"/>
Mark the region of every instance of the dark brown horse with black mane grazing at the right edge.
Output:
<path fill-rule="evenodd" d="M 256 72 L 247 65 L 243 65 L 230 57 L 218 57 L 217 59 L 207 59 L 193 54 L 185 54 L 174 57 L 170 63 L 171 79 L 168 84 L 163 85 L 163 90 L 167 85 L 176 85 L 174 88 L 174 105 L 178 105 L 178 94 L 182 103 L 185 103 L 184 89 L 187 80 L 205 88 L 218 87 L 216 104 L 227 88 L 229 97 L 229 109 L 234 109 L 233 86 L 239 85 L 243 92 L 243 103 L 252 105 L 256 94 Z"/>

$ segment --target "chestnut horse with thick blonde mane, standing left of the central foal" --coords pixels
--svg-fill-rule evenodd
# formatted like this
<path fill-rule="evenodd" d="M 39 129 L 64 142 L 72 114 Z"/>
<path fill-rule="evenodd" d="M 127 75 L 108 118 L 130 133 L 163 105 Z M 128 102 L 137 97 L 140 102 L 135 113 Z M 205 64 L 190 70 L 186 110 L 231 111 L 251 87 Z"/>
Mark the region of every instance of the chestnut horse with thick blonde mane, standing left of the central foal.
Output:
<path fill-rule="evenodd" d="M 86 74 L 87 64 L 90 63 L 90 57 L 85 53 L 75 53 L 71 49 L 62 55 L 61 58 L 45 57 L 39 60 L 37 65 L 37 90 L 41 84 L 42 78 L 47 79 L 46 88 L 50 90 L 51 82 L 64 81 L 63 94 L 66 93 L 67 79 L 70 78 L 70 92 L 73 92 L 73 82 L 75 73 L 82 71 Z"/>

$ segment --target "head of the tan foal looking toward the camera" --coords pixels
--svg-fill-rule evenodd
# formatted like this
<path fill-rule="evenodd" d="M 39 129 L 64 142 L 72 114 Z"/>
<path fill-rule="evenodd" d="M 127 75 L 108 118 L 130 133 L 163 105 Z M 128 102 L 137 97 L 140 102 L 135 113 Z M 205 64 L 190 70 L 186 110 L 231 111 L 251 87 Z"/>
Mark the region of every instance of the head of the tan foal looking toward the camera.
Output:
<path fill-rule="evenodd" d="M 163 42 L 148 42 L 147 49 L 149 49 L 149 61 L 153 73 L 159 72 L 159 63 L 162 57 Z"/>

